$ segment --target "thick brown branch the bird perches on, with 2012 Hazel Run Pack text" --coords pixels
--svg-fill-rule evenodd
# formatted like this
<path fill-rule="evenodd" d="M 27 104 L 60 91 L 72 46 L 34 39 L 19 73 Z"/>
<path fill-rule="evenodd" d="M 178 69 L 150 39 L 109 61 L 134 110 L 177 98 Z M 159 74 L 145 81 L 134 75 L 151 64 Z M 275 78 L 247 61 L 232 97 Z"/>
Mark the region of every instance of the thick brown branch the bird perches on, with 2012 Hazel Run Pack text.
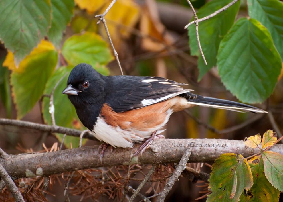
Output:
<path fill-rule="evenodd" d="M 213 162 L 220 154 L 228 152 L 242 154 L 244 157 L 259 152 L 258 148 L 249 148 L 244 141 L 239 140 L 157 139 L 150 146 L 156 153 L 147 149 L 143 156 L 134 157 L 129 162 L 132 153 L 137 150 L 138 146 L 140 145 L 136 145 L 133 149 L 115 148 L 113 154 L 110 149 L 106 149 L 102 163 L 98 145 L 48 153 L 9 155 L 5 159 L 0 159 L 0 163 L 11 177 L 17 178 L 50 176 L 102 166 L 179 162 L 189 147 L 192 148 L 189 162 Z M 283 154 L 283 145 L 276 144 L 270 150 Z"/>

